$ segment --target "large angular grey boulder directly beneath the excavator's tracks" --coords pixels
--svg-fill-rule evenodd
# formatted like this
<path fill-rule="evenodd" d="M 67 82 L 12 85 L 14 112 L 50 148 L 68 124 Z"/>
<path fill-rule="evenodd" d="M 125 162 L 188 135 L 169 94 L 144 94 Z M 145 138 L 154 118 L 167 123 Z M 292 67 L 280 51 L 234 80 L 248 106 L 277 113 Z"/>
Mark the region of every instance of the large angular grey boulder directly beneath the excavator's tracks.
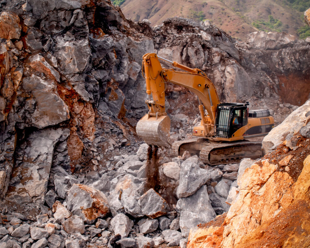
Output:
<path fill-rule="evenodd" d="M 205 184 L 210 178 L 210 171 L 199 167 L 197 156 L 186 159 L 181 164 L 177 197 L 181 198 L 193 195 L 197 189 Z"/>

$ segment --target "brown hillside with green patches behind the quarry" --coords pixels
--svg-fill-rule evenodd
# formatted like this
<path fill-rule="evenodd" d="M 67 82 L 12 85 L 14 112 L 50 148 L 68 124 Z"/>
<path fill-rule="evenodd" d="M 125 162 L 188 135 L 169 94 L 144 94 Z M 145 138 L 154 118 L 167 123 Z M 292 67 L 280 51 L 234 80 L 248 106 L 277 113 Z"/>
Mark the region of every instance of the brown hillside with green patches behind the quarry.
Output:
<path fill-rule="evenodd" d="M 149 19 L 155 26 L 173 16 L 207 19 L 241 40 L 255 30 L 298 35 L 298 29 L 305 25 L 303 11 L 310 6 L 307 0 L 116 0 L 114 3 L 134 21 Z"/>

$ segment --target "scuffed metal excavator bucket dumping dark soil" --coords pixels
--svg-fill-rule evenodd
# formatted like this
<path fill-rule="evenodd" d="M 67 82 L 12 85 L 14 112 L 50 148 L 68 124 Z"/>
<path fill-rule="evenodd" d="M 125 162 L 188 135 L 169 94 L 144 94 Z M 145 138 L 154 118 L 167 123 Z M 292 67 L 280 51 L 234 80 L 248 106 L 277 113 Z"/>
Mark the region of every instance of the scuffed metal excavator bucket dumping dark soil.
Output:
<path fill-rule="evenodd" d="M 144 115 L 136 126 L 137 134 L 149 145 L 170 148 L 170 118 L 167 115 L 148 117 Z"/>

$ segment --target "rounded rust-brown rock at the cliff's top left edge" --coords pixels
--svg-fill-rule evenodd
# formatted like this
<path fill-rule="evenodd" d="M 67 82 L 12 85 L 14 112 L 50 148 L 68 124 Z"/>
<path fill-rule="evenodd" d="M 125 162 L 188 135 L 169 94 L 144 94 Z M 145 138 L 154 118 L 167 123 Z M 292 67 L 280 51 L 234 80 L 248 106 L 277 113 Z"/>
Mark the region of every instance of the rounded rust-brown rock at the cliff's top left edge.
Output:
<path fill-rule="evenodd" d="M 3 11 L 0 15 L 0 38 L 7 40 L 20 38 L 20 19 L 12 12 Z"/>

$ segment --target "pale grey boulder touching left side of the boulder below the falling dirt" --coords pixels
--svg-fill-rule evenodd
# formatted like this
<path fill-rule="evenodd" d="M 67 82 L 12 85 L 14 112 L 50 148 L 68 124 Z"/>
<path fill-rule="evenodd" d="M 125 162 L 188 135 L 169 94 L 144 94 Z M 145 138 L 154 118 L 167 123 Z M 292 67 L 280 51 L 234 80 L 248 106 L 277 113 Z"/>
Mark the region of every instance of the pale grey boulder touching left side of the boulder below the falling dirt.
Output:
<path fill-rule="evenodd" d="M 135 218 L 142 217 L 141 207 L 138 204 L 140 195 L 135 190 L 135 188 L 126 188 L 122 192 L 121 203 L 126 211 L 126 213 L 134 216 Z"/>

